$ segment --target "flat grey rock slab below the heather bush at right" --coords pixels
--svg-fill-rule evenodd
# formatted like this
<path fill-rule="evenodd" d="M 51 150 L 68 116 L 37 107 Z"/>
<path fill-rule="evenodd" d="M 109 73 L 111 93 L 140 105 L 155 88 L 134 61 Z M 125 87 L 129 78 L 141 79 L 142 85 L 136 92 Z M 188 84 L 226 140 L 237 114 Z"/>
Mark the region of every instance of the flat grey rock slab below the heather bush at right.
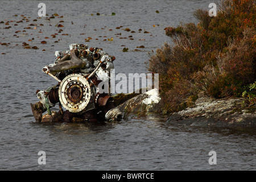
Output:
<path fill-rule="evenodd" d="M 243 108 L 243 98 L 201 97 L 195 105 L 168 117 L 168 123 L 192 126 L 256 127 L 256 108 Z"/>

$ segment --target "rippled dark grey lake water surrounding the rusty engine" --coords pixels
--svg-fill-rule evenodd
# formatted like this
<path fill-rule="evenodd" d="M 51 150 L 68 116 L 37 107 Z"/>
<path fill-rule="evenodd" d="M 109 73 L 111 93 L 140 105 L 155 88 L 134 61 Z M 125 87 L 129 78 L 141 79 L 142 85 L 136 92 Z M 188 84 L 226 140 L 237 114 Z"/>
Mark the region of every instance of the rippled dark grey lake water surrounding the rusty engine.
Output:
<path fill-rule="evenodd" d="M 59 16 L 39 19 L 40 2 L 46 4 L 47 18 Z M 150 116 L 115 123 L 39 124 L 32 116 L 30 103 L 38 102 L 35 90 L 56 84 L 41 71 L 53 63 L 55 51 L 65 51 L 69 44 L 85 43 L 90 37 L 86 44 L 116 57 L 116 74 L 146 73 L 148 52 L 170 42 L 164 28 L 196 23 L 193 11 L 208 9 L 209 3 L 1 1 L 0 42 L 7 45 L 0 45 L 0 169 L 255 170 L 255 130 L 171 125 Z M 47 44 L 41 44 L 43 40 Z M 23 42 L 39 49 L 24 49 Z M 128 52 L 122 52 L 124 47 Z M 46 165 L 38 164 L 39 151 L 46 152 Z M 208 163 L 210 151 L 216 151 L 216 165 Z"/>

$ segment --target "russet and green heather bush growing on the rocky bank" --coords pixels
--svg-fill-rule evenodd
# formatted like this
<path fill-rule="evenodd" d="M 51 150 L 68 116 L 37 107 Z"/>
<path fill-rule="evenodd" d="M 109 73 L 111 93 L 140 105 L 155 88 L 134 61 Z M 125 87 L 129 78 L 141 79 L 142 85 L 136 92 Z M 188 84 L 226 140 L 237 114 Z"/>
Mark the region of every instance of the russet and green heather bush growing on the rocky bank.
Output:
<path fill-rule="evenodd" d="M 150 53 L 147 67 L 159 73 L 164 110 L 185 109 L 202 95 L 255 103 L 255 1 L 221 1 L 217 10 L 216 17 L 196 10 L 198 24 L 165 28 L 172 44 Z"/>

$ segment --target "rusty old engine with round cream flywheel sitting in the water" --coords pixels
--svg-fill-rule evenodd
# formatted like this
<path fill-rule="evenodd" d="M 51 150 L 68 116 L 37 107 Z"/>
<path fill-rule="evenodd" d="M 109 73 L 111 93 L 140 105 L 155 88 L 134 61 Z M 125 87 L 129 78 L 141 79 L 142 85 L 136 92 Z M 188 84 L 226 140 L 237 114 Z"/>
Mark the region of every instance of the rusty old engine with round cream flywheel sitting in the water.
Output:
<path fill-rule="evenodd" d="M 43 122 L 44 119 L 52 122 L 122 119 L 122 113 L 114 105 L 110 92 L 102 93 L 98 88 L 102 81 L 110 83 L 114 56 L 84 44 L 71 44 L 68 51 L 56 51 L 55 56 L 55 63 L 47 65 L 42 71 L 58 83 L 46 90 L 36 90 L 40 101 L 31 104 L 37 122 Z M 57 103 L 59 111 L 51 111 L 51 107 Z"/>

